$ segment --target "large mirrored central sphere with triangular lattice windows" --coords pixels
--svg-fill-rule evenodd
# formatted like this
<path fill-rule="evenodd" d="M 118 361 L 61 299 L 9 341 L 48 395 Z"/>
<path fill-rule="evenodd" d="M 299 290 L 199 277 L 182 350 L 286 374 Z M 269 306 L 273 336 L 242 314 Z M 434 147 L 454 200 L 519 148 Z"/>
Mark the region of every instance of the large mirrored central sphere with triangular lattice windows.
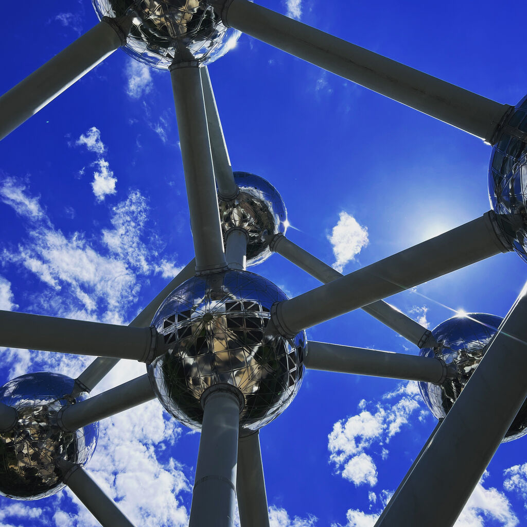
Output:
<path fill-rule="evenodd" d="M 197 276 L 174 289 L 152 324 L 166 353 L 148 366 L 161 404 L 183 424 L 199 429 L 200 397 L 226 383 L 245 398 L 240 426 L 257 430 L 281 414 L 300 388 L 306 335 L 264 336 L 275 302 L 286 295 L 248 271 Z"/>

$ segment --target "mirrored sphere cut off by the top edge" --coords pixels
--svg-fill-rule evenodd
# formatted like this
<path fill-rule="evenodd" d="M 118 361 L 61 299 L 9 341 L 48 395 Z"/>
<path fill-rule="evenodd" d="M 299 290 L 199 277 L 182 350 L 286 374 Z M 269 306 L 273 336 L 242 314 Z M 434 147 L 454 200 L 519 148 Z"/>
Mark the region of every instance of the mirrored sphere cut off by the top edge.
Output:
<path fill-rule="evenodd" d="M 209 64 L 235 46 L 240 32 L 227 28 L 204 0 L 92 0 L 99 19 L 131 15 L 124 51 L 168 70 L 172 62 Z"/>

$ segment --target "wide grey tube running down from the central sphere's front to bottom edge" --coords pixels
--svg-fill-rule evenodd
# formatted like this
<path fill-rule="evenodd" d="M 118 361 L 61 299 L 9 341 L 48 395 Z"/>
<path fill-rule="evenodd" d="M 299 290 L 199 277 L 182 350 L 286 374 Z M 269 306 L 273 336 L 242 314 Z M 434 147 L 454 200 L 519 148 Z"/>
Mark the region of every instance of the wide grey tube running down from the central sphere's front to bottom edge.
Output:
<path fill-rule="evenodd" d="M 202 405 L 203 426 L 189 527 L 232 527 L 240 398 L 236 393 L 213 386 L 203 394 Z"/>

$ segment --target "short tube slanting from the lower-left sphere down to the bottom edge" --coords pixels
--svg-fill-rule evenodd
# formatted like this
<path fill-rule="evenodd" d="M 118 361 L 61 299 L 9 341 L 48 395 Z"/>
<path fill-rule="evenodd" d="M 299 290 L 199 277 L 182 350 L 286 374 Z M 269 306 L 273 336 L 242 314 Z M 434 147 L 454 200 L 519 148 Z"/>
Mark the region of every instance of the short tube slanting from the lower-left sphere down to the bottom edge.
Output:
<path fill-rule="evenodd" d="M 65 469 L 64 483 L 103 527 L 134 527 L 81 465 Z"/>

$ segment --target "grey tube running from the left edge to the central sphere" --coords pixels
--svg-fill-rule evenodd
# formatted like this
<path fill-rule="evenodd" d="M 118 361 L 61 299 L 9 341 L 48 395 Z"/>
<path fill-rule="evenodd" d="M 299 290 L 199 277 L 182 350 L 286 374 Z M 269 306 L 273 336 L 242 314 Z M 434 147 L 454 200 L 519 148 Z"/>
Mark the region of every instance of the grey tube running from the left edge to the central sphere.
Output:
<path fill-rule="evenodd" d="M 0 311 L 0 346 L 141 360 L 150 328 Z"/>

